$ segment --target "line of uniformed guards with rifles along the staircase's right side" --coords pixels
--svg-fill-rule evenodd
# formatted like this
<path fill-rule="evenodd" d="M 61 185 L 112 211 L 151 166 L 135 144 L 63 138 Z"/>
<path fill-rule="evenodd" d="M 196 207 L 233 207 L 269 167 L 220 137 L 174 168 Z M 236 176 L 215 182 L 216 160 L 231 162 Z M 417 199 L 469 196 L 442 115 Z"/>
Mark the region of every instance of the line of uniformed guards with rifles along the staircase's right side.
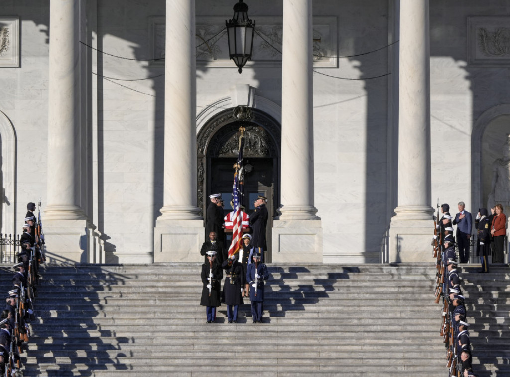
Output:
<path fill-rule="evenodd" d="M 448 205 L 441 206 L 434 219 L 433 257 L 436 258 L 436 304 L 443 301 L 440 336 L 446 347 L 448 376 L 475 375 L 471 365 L 471 343 L 464 296 L 457 271 L 457 256 L 453 238 L 452 217 Z M 448 230 L 450 229 L 450 230 Z"/>

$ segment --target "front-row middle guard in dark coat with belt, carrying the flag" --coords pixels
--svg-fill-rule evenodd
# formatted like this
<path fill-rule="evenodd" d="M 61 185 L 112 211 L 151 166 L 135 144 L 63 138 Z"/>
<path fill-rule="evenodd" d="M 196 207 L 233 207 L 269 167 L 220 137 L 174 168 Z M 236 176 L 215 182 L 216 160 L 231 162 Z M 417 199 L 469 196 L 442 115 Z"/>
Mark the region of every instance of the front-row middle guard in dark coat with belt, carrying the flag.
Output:
<path fill-rule="evenodd" d="M 236 255 L 223 261 L 221 266 L 225 270 L 225 282 L 221 302 L 226 304 L 226 315 L 229 324 L 237 324 L 237 311 L 243 304 L 241 292 L 244 285 L 244 271 L 241 262 L 236 260 Z"/>

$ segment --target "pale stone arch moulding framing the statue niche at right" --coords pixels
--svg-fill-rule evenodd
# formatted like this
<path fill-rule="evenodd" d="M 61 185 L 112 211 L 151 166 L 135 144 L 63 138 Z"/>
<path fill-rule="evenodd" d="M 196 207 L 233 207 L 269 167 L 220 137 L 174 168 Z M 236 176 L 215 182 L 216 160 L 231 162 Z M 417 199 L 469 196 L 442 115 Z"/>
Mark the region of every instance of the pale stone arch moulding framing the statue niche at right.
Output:
<path fill-rule="evenodd" d="M 510 104 L 491 107 L 491 109 L 484 111 L 473 125 L 473 131 L 471 132 L 471 208 L 473 208 L 473 211 L 480 205 L 482 207 L 486 206 L 486 203 L 483 203 L 482 193 L 481 149 L 483 133 L 494 119 L 503 115 L 510 115 Z"/>

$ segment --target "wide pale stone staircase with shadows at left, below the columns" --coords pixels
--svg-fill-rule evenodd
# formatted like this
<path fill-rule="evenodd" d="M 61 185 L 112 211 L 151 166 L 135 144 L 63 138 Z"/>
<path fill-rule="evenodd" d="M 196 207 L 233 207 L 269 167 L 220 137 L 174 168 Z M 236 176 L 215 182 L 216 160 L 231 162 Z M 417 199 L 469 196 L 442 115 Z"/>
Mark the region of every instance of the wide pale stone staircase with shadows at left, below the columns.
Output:
<path fill-rule="evenodd" d="M 466 295 L 480 293 L 467 302 L 481 376 L 510 375 L 509 277 L 495 270 L 463 275 Z M 206 324 L 199 263 L 44 265 L 24 375 L 447 374 L 431 263 L 269 271 L 264 324 L 251 324 L 248 305 L 239 324 L 226 323 L 224 306 Z M 2 272 L 0 289 L 11 275 Z"/>

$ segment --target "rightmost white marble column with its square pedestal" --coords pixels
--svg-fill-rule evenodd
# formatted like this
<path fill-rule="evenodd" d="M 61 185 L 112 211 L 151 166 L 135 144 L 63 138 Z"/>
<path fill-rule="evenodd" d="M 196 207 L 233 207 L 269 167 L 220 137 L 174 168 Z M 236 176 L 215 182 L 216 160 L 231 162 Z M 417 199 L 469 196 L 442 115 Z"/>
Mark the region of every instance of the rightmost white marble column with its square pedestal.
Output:
<path fill-rule="evenodd" d="M 430 205 L 429 0 L 400 2 L 398 207 L 390 260 L 427 261 Z"/>

